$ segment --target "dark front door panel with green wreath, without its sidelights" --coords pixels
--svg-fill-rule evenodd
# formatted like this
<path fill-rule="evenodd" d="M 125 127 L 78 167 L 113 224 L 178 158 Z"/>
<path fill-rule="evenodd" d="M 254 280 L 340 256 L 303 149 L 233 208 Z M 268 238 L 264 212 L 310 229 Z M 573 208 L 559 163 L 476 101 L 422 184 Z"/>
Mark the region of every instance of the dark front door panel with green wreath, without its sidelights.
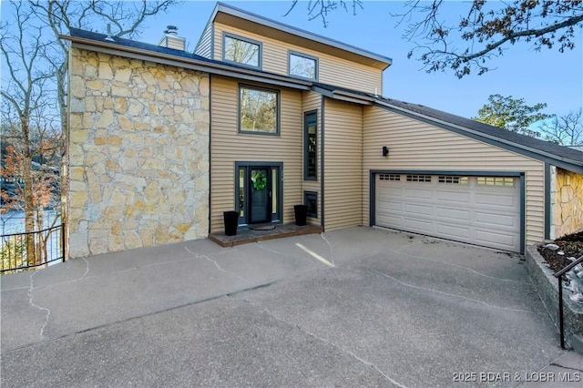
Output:
<path fill-rule="evenodd" d="M 271 222 L 271 168 L 251 168 L 248 187 L 249 223 Z"/>

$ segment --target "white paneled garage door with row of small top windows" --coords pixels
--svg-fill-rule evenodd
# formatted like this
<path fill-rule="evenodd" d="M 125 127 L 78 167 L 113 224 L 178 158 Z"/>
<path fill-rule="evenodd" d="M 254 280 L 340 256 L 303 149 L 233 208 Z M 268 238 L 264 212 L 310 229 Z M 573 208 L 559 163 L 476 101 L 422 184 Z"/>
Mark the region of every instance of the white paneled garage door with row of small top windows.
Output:
<path fill-rule="evenodd" d="M 520 185 L 511 177 L 376 174 L 375 224 L 520 251 Z"/>

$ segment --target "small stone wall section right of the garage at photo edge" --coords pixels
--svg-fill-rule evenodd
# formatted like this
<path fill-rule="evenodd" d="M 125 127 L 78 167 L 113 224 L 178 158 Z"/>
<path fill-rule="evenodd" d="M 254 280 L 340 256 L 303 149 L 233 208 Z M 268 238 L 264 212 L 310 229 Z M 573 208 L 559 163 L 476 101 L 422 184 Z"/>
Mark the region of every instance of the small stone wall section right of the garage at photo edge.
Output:
<path fill-rule="evenodd" d="M 552 167 L 550 238 L 583 230 L 583 175 Z"/>

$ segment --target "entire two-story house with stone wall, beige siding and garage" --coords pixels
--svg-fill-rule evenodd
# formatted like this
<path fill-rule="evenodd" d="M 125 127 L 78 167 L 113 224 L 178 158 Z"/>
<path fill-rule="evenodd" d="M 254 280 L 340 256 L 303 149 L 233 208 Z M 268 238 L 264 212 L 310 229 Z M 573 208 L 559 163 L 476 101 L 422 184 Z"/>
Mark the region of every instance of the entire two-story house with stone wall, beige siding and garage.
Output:
<path fill-rule="evenodd" d="M 194 53 L 72 29 L 70 256 L 289 223 L 522 252 L 583 228 L 583 153 L 382 97 L 386 56 L 218 4 Z M 420 91 L 421 92 L 421 91 Z"/>

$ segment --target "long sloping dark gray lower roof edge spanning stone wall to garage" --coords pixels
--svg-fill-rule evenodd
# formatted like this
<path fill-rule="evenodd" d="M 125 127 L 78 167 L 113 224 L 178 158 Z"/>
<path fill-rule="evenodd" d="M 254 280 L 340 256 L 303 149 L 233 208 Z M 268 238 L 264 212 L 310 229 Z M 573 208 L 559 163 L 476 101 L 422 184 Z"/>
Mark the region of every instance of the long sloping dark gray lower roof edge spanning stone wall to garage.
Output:
<path fill-rule="evenodd" d="M 261 80 L 262 77 L 266 82 L 268 82 L 268 78 L 271 80 L 271 82 L 274 82 L 273 79 L 277 78 L 279 79 L 277 82 L 280 82 L 282 86 L 298 87 L 302 89 L 312 88 L 312 90 L 321 93 L 329 92 L 330 97 L 334 97 L 333 92 L 341 92 L 343 94 L 352 95 L 356 97 L 356 99 L 360 98 L 363 101 L 366 101 L 366 103 L 369 105 L 382 107 L 384 109 L 394 111 L 395 113 L 413 117 L 414 119 L 427 122 L 437 127 L 445 128 L 464 136 L 476 138 L 488 144 L 492 144 L 500 148 L 506 148 L 531 158 L 537 158 L 539 160 L 546 161 L 560 168 L 566 168 L 579 174 L 583 174 L 583 152 L 578 149 L 558 146 L 554 143 L 537 138 L 531 138 L 526 135 L 507 131 L 505 129 L 489 126 L 469 118 L 456 116 L 431 107 L 424 107 L 423 105 L 412 104 L 393 98 L 373 96 L 344 87 L 334 87 L 332 85 L 326 85 L 318 82 L 299 80 L 292 77 L 264 72 L 261 70 L 249 69 L 244 66 L 237 66 L 222 61 L 211 60 L 204 56 L 198 56 L 186 51 L 136 42 L 129 39 L 116 37 L 114 41 L 106 41 L 106 35 L 104 34 L 98 34 L 77 28 L 70 29 L 70 36 L 62 37 L 67 39 L 71 39 L 71 37 L 73 37 L 75 39 L 71 40 L 74 41 L 76 39 L 81 39 L 83 42 L 93 43 L 97 46 L 116 47 L 122 52 L 124 49 L 138 49 L 141 52 L 148 53 L 148 55 L 151 56 L 182 58 L 185 63 L 196 63 L 198 66 L 207 68 L 210 72 L 217 72 L 216 68 L 231 69 L 232 72 L 227 74 L 230 77 L 244 78 L 250 77 L 249 75 L 251 74 L 256 80 Z M 181 66 L 181 64 L 178 63 L 177 66 Z"/>

